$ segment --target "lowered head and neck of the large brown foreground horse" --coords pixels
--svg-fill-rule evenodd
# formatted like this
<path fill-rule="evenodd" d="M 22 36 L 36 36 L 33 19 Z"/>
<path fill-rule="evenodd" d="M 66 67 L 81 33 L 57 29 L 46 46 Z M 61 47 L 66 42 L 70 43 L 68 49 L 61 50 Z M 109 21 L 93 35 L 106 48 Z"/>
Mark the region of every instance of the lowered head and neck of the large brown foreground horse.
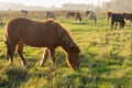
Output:
<path fill-rule="evenodd" d="M 75 70 L 79 69 L 79 53 L 80 50 L 77 44 L 73 41 L 69 32 L 63 28 L 62 25 L 57 26 L 58 29 L 58 36 L 61 46 L 64 48 L 66 53 L 66 62 L 70 68 Z"/>

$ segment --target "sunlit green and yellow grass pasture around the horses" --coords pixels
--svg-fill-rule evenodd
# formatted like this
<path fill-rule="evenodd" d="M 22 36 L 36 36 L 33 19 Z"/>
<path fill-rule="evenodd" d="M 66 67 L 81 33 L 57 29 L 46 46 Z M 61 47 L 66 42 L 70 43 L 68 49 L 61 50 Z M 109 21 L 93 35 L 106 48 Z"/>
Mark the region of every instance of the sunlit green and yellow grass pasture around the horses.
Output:
<path fill-rule="evenodd" d="M 132 88 L 132 25 L 123 30 L 110 30 L 107 13 L 97 13 L 97 23 L 66 18 L 66 11 L 56 11 L 56 19 L 72 31 L 79 45 L 80 69 L 70 69 L 61 47 L 56 50 L 56 68 L 51 69 L 51 59 L 43 67 L 40 62 L 43 48 L 25 45 L 24 56 L 29 67 L 22 67 L 20 57 L 14 54 L 14 63 L 6 59 L 4 25 L 16 16 L 37 21 L 45 20 L 45 12 L 32 11 L 28 15 L 19 11 L 0 11 L 0 88 Z"/>

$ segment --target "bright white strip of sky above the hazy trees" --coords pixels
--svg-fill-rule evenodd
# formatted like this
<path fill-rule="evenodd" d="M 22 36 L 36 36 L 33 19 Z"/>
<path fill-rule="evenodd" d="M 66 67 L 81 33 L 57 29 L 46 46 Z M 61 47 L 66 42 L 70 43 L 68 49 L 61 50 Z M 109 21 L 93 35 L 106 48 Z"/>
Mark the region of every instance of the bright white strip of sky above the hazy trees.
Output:
<path fill-rule="evenodd" d="M 63 3 L 85 3 L 85 4 L 95 4 L 101 3 L 102 1 L 110 1 L 110 0 L 0 0 L 1 2 L 8 3 L 22 3 L 24 6 L 40 6 L 40 7 L 56 7 L 61 8 Z"/>

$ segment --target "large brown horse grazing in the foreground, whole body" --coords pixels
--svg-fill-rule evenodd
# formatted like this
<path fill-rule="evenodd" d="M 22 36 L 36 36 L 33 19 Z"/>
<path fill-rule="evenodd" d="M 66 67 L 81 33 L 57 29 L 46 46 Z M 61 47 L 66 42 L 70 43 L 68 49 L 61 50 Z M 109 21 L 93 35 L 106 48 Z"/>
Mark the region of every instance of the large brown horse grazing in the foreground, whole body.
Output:
<path fill-rule="evenodd" d="M 55 48 L 62 46 L 66 52 L 66 61 L 69 67 L 79 69 L 80 50 L 72 38 L 69 32 L 58 22 L 47 20 L 45 22 L 32 21 L 25 18 L 11 20 L 6 28 L 7 59 L 13 62 L 13 54 L 18 46 L 18 54 L 22 65 L 28 63 L 23 56 L 23 44 L 34 47 L 46 47 L 43 53 L 41 66 L 51 53 L 52 65 L 55 65 Z"/>

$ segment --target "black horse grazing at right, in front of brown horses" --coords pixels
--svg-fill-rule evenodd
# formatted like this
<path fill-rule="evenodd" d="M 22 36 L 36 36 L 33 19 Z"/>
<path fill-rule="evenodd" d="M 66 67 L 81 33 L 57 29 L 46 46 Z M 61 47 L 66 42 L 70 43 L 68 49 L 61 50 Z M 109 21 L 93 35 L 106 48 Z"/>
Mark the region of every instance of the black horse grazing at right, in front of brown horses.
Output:
<path fill-rule="evenodd" d="M 117 29 L 118 22 L 120 23 L 120 30 L 124 28 L 125 25 L 125 21 L 124 18 L 122 16 L 122 14 L 120 13 L 112 13 L 111 15 L 111 30 L 113 30 L 114 23 L 114 30 Z"/>

